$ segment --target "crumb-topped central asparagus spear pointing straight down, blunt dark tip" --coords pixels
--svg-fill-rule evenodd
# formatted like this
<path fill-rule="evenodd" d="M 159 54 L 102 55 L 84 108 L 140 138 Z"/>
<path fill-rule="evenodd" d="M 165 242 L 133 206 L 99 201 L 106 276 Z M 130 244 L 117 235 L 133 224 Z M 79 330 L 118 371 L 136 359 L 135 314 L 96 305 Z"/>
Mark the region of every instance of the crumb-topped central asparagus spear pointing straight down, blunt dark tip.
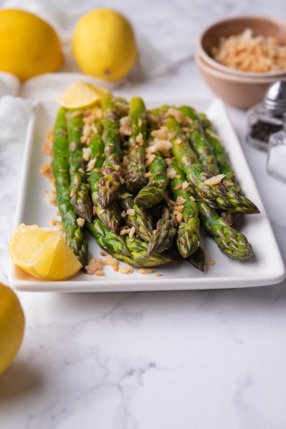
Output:
<path fill-rule="evenodd" d="M 147 115 L 144 102 L 141 98 L 132 98 L 130 101 L 129 117 L 131 119 L 132 134 L 129 137 L 129 164 L 125 175 L 127 190 L 137 193 L 147 184 L 144 176 L 145 167 L 145 147 Z"/>

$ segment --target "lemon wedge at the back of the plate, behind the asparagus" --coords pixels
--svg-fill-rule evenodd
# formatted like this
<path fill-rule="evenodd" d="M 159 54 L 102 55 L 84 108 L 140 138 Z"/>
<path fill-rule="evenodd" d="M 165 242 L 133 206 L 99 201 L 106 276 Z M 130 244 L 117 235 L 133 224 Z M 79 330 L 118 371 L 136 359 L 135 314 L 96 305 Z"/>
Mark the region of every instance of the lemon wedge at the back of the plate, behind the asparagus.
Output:
<path fill-rule="evenodd" d="M 75 81 L 63 91 L 56 102 L 66 109 L 83 109 L 84 107 L 98 105 L 100 100 L 108 95 L 111 95 L 110 92 L 104 88 L 82 81 Z"/>

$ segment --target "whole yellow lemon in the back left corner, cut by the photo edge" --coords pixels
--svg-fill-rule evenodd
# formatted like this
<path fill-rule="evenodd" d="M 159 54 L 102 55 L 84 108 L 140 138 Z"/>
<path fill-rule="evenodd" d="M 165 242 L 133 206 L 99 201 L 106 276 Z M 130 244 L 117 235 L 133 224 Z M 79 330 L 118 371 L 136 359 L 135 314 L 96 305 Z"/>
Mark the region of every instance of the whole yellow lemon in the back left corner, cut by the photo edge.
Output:
<path fill-rule="evenodd" d="M 23 10 L 0 10 L 0 70 L 24 81 L 54 72 L 62 61 L 60 41 L 50 25 Z"/>

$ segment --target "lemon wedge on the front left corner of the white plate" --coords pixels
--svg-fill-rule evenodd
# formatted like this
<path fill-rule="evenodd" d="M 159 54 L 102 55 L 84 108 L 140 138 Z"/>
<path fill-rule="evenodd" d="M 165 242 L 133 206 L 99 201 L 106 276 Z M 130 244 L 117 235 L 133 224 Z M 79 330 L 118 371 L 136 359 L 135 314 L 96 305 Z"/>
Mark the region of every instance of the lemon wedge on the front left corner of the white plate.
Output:
<path fill-rule="evenodd" d="M 50 281 L 66 280 L 82 267 L 60 230 L 38 225 L 19 225 L 11 237 L 9 253 L 25 272 Z"/>

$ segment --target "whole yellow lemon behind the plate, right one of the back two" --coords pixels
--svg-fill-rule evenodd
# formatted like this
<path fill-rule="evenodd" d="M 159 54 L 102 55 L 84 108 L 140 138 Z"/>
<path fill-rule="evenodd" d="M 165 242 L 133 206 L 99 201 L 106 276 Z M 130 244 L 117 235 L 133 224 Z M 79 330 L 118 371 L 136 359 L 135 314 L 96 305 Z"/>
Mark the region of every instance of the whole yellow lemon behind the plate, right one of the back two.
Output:
<path fill-rule="evenodd" d="M 73 33 L 72 50 L 84 73 L 109 81 L 126 76 L 137 59 L 131 25 L 111 9 L 96 9 L 80 18 Z"/>

